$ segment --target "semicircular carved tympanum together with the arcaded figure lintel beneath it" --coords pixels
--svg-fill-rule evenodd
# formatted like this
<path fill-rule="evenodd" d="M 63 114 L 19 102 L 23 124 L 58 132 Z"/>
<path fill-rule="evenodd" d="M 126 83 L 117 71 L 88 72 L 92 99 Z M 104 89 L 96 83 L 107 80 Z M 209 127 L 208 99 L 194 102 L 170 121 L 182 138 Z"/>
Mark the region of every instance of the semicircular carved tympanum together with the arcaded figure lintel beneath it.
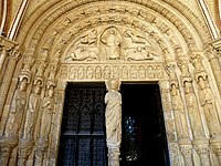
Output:
<path fill-rule="evenodd" d="M 65 80 L 159 80 L 166 76 L 164 58 L 155 41 L 119 25 L 85 31 L 69 44 L 61 61 L 60 75 Z"/>

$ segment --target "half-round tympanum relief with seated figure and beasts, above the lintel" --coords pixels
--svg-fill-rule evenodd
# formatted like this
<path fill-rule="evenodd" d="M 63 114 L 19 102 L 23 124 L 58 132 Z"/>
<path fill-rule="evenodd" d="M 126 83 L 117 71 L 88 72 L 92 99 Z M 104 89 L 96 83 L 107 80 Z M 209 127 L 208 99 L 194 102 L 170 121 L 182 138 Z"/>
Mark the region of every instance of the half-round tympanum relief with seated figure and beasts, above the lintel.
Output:
<path fill-rule="evenodd" d="M 64 63 L 73 61 L 160 61 L 159 48 L 140 32 L 117 25 L 99 27 L 76 38 L 67 48 Z"/>

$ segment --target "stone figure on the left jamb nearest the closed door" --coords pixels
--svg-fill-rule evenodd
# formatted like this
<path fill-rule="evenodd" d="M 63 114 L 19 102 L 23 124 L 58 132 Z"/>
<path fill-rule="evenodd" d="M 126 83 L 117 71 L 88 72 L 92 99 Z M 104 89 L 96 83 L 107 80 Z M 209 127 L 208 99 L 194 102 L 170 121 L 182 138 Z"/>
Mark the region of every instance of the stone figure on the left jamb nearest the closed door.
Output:
<path fill-rule="evenodd" d="M 41 129 L 40 138 L 48 141 L 49 134 L 52 125 L 52 116 L 55 113 L 54 110 L 54 86 L 51 85 L 46 90 L 46 96 L 43 98 L 42 103 L 42 118 L 41 118 Z"/>

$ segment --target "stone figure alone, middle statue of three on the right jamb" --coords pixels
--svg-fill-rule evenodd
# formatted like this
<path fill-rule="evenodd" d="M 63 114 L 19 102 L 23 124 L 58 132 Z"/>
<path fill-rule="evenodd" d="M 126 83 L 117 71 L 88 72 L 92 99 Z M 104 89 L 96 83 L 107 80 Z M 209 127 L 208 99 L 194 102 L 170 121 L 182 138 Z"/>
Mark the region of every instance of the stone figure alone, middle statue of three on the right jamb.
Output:
<path fill-rule="evenodd" d="M 202 123 L 200 118 L 199 107 L 197 103 L 197 97 L 193 93 L 191 82 L 185 82 L 186 102 L 189 112 L 190 124 L 192 127 L 192 133 L 194 138 L 204 137 L 204 132 L 202 128 Z"/>

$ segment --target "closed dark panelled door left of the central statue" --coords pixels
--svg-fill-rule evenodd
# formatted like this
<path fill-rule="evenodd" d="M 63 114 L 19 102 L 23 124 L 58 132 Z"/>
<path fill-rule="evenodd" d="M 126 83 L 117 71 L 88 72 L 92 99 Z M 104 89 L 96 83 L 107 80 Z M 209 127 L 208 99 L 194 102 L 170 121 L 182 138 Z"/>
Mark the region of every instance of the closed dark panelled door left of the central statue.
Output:
<path fill-rule="evenodd" d="M 60 138 L 59 166 L 106 166 L 104 83 L 70 83 Z"/>

